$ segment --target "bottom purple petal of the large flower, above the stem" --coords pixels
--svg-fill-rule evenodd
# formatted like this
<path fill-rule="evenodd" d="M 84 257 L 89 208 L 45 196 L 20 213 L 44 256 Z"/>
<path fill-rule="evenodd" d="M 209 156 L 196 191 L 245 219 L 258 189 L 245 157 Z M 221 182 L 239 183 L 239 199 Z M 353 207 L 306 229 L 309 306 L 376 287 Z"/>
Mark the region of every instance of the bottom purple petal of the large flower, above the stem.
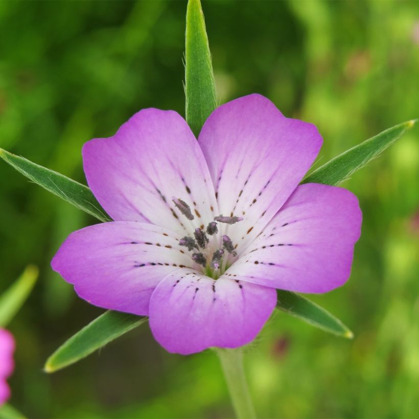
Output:
<path fill-rule="evenodd" d="M 276 291 L 197 271 L 168 275 L 150 299 L 150 328 L 169 352 L 183 355 L 211 346 L 238 347 L 260 332 L 276 304 Z"/>

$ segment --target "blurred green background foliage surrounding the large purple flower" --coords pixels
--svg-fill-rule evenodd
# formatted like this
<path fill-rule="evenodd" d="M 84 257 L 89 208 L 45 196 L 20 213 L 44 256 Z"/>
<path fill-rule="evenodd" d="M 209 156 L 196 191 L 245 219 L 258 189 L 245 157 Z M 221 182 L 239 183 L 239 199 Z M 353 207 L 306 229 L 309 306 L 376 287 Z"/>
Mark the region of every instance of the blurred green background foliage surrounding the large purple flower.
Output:
<path fill-rule="evenodd" d="M 220 103 L 259 92 L 317 125 L 319 164 L 419 117 L 419 2 L 203 2 Z M 81 146 L 145 107 L 184 114 L 185 2 L 0 2 L 0 147 L 85 182 Z M 346 181 L 363 234 L 351 280 L 313 299 L 355 333 L 276 313 L 248 348 L 259 417 L 419 416 L 419 129 Z M 143 325 L 54 375 L 45 359 L 103 310 L 50 268 L 95 223 L 0 161 L 0 292 L 40 280 L 10 324 L 11 404 L 29 417 L 233 415 L 211 351 L 170 355 Z"/>

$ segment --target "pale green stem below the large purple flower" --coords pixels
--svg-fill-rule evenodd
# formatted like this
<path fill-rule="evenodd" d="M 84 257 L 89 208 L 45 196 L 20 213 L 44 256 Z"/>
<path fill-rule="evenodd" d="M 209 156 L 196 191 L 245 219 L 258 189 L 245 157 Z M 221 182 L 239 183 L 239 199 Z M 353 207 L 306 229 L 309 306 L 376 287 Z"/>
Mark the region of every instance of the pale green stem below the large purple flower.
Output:
<path fill-rule="evenodd" d="M 243 368 L 243 351 L 237 349 L 214 348 L 224 371 L 225 381 L 238 419 L 254 419 L 254 408 L 250 399 Z"/>

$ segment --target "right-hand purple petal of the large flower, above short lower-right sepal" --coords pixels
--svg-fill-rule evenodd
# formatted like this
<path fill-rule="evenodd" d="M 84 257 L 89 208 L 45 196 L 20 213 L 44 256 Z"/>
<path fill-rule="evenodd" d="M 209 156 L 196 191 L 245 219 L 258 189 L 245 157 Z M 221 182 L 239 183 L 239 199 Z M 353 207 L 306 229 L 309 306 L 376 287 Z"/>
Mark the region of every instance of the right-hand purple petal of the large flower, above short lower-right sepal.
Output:
<path fill-rule="evenodd" d="M 290 291 L 330 291 L 350 276 L 361 220 L 351 192 L 318 183 L 299 185 L 225 275 Z"/>

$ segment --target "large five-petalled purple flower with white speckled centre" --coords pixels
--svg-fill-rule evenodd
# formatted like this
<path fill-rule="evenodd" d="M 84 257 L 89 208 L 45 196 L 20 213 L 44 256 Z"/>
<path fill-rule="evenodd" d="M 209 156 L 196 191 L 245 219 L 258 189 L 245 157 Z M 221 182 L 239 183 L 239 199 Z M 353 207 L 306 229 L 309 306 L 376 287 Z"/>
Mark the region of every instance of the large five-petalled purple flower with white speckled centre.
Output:
<path fill-rule="evenodd" d="M 261 95 L 217 108 L 198 141 L 178 113 L 143 109 L 84 145 L 87 182 L 114 221 L 73 232 L 52 267 L 91 304 L 148 315 L 169 352 L 244 345 L 275 288 L 323 293 L 350 275 L 357 198 L 298 185 L 321 143 Z"/>

